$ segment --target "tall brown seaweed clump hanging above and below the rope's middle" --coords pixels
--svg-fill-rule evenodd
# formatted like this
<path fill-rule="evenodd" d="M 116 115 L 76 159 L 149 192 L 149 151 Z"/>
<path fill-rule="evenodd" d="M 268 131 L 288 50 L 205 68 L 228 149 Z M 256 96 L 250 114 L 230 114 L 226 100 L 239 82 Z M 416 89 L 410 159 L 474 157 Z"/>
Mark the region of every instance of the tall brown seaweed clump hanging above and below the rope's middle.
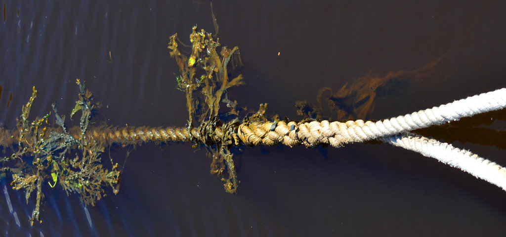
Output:
<path fill-rule="evenodd" d="M 216 20 L 215 20 L 216 23 Z M 217 24 L 215 29 L 218 31 Z M 216 35 L 215 35 L 216 36 Z M 171 36 L 168 44 L 170 54 L 176 59 L 181 75 L 176 77 L 178 89 L 186 94 L 188 108 L 188 129 L 199 126 L 199 137 L 206 146 L 208 156 L 212 159 L 211 173 L 217 174 L 225 182 L 225 190 L 234 193 L 239 181 L 235 172 L 234 161 L 230 147 L 238 145 L 235 129 L 239 120 L 239 111 L 245 110 L 237 106 L 237 101 L 228 99 L 227 89 L 243 85 L 241 74 L 230 80 L 230 71 L 242 66 L 239 48 L 220 47 L 220 39 L 204 29 L 192 28 L 190 34 L 191 46 L 184 45 L 177 33 Z M 190 55 L 186 56 L 179 50 L 179 44 L 190 48 Z M 218 51 L 220 50 L 220 53 Z M 225 104 L 230 110 L 220 111 L 220 104 Z M 223 123 L 221 119 L 233 117 Z M 225 134 L 216 134 L 219 131 Z M 224 174 L 227 171 L 228 176 Z"/>

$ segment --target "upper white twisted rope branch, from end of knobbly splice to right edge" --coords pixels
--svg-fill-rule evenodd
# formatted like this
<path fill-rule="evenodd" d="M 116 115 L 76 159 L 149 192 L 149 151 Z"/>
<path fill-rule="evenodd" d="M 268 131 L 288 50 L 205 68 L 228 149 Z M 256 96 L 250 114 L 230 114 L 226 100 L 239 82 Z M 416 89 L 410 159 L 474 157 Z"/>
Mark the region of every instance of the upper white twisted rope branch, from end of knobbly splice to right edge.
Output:
<path fill-rule="evenodd" d="M 336 139 L 329 138 L 329 142 L 331 145 L 339 147 L 342 145 L 343 140 L 363 142 L 378 137 L 392 136 L 432 125 L 457 121 L 461 117 L 473 116 L 504 107 L 506 107 L 506 88 L 383 121 L 367 121 L 364 123 L 359 120 L 351 126 L 332 122 L 329 127 L 334 132 Z M 341 137 L 344 139 L 341 139 Z"/>

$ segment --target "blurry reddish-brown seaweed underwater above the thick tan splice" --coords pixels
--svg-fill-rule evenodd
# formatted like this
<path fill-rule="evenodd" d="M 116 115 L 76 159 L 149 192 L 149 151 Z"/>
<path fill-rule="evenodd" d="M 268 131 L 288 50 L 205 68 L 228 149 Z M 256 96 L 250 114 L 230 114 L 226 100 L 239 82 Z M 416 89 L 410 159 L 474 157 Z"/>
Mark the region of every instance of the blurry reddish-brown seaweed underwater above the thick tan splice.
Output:
<path fill-rule="evenodd" d="M 330 119 L 323 115 L 326 103 L 327 108 L 334 115 L 333 120 L 344 121 L 353 119 L 366 119 L 374 110 L 376 97 L 379 95 L 392 95 L 406 93 L 407 88 L 421 88 L 432 86 L 429 78 L 441 77 L 437 67 L 447 54 L 428 64 L 411 71 L 391 71 L 385 76 L 368 73 L 357 78 L 353 83 L 346 83 L 336 92 L 329 87 L 322 87 L 318 91 L 317 104 L 308 101 L 297 101 L 298 115 L 305 119 Z"/>

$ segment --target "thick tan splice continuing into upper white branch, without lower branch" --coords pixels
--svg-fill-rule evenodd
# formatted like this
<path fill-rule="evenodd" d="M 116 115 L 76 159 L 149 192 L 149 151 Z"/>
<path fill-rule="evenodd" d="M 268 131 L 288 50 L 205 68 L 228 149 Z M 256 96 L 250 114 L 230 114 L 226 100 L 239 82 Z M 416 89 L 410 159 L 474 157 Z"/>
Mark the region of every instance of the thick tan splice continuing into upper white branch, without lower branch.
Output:
<path fill-rule="evenodd" d="M 288 124 L 246 122 L 239 125 L 237 135 L 248 145 L 282 143 L 290 147 L 297 144 L 313 147 L 330 144 L 340 147 L 350 142 L 364 142 L 392 136 L 504 107 L 506 107 L 506 88 L 383 121 L 356 120 L 342 123 L 325 120 Z"/>

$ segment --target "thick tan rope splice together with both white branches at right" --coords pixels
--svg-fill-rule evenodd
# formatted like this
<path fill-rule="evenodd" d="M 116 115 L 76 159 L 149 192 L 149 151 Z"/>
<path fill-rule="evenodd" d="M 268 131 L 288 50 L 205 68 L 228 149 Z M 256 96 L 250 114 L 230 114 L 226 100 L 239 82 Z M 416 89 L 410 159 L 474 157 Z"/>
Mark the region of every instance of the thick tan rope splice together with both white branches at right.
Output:
<path fill-rule="evenodd" d="M 345 123 L 312 121 L 289 122 L 288 124 L 284 122 L 277 124 L 251 122 L 241 124 L 237 135 L 245 144 L 274 145 L 282 143 L 290 147 L 298 144 L 308 147 L 319 144 L 340 147 L 350 142 L 377 139 L 433 157 L 444 164 L 459 168 L 506 190 L 506 168 L 450 144 L 407 134 L 415 129 L 457 121 L 461 117 L 473 116 L 504 107 L 506 107 L 506 88 L 383 121 L 357 120 Z"/>

